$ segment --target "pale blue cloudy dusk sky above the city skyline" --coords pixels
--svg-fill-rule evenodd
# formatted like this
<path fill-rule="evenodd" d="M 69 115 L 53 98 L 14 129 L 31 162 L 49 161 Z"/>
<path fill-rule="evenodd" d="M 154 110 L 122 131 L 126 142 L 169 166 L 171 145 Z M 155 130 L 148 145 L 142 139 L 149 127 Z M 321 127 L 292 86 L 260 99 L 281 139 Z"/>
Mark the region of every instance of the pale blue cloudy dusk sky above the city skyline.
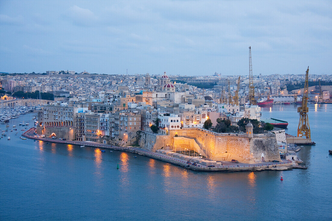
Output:
<path fill-rule="evenodd" d="M 0 0 L 0 72 L 332 74 L 332 1 Z"/>

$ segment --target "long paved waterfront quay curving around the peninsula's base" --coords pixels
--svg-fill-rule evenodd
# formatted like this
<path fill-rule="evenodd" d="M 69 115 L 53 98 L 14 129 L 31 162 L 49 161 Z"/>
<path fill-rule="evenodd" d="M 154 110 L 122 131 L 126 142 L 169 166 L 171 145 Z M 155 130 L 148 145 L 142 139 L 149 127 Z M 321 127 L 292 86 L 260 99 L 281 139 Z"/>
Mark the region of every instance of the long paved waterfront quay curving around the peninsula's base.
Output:
<path fill-rule="evenodd" d="M 33 131 L 35 130 L 35 127 L 32 127 L 28 129 L 26 132 L 22 134 L 22 136 L 29 138 L 29 139 L 35 139 L 39 141 L 46 141 L 46 142 L 53 142 L 53 143 L 63 143 L 63 144 L 73 144 L 73 145 L 81 145 L 81 146 L 89 146 L 89 147 L 95 147 L 95 148 L 104 148 L 104 149 L 111 149 L 111 150 L 119 150 L 119 151 L 125 151 L 130 152 L 133 154 L 138 154 L 142 156 L 147 156 L 150 158 L 154 158 L 157 160 L 162 160 L 174 165 L 178 165 L 181 167 L 184 167 L 186 169 L 194 170 L 194 171 L 220 171 L 220 172 L 235 172 L 235 171 L 263 171 L 263 170 L 292 170 L 292 169 L 306 169 L 305 167 L 300 167 L 297 164 L 282 160 L 282 162 L 279 163 L 273 163 L 273 162 L 261 162 L 261 163 L 255 163 L 255 164 L 243 164 L 243 163 L 230 163 L 227 162 L 228 165 L 222 165 L 222 166 L 214 166 L 209 167 L 208 165 L 203 164 L 197 164 L 197 166 L 189 165 L 187 164 L 187 160 L 175 158 L 172 156 L 167 156 L 165 154 L 156 153 L 153 151 L 149 151 L 146 149 L 138 148 L 138 147 L 120 147 L 120 146 L 114 146 L 109 144 L 101 144 L 101 143 L 93 143 L 93 142 L 85 142 L 85 141 L 71 141 L 71 140 L 58 140 L 58 139 L 51 139 L 46 137 L 34 137 Z"/>

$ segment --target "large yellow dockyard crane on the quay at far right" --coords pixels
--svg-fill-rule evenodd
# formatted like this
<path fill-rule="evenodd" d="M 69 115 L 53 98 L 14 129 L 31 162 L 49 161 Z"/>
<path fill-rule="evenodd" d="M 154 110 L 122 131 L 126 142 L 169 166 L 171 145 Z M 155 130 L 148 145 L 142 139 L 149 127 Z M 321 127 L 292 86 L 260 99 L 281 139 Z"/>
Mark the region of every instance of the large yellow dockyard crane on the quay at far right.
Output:
<path fill-rule="evenodd" d="M 310 126 L 308 121 L 308 74 L 309 74 L 309 66 L 307 71 L 305 72 L 305 82 L 304 82 L 304 89 L 303 89 L 303 97 L 302 97 L 302 105 L 301 107 L 297 108 L 297 112 L 300 114 L 300 120 L 298 121 L 298 128 L 297 128 L 297 137 L 310 137 Z"/>

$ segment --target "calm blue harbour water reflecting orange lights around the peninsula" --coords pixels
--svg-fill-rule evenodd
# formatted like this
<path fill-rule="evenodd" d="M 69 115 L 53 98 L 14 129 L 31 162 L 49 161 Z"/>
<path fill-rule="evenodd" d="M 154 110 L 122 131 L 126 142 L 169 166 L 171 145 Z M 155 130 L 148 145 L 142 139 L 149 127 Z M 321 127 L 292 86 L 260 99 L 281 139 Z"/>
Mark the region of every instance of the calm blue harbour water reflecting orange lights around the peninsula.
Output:
<path fill-rule="evenodd" d="M 308 169 L 281 172 L 194 172 L 9 132 L 10 141 L 0 140 L 0 220 L 330 220 L 332 105 L 309 110 L 317 144 L 298 152 Z M 296 134 L 296 106 L 262 111 L 263 118 L 288 121 L 287 133 Z M 9 128 L 23 120 L 33 125 L 34 115 L 11 120 Z"/>

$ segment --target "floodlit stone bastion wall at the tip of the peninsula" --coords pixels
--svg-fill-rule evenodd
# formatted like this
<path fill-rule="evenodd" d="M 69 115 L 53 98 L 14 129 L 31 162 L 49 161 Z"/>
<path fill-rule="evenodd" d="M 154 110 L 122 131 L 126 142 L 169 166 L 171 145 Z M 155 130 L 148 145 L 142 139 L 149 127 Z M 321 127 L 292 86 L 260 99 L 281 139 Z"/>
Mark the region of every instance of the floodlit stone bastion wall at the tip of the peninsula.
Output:
<path fill-rule="evenodd" d="M 163 136 L 143 132 L 139 145 L 152 151 L 179 151 L 187 148 L 212 160 L 235 159 L 245 163 L 280 160 L 276 135 L 272 133 L 254 134 L 249 138 L 244 133 L 215 133 L 199 128 L 187 128 L 170 130 L 169 135 Z"/>

